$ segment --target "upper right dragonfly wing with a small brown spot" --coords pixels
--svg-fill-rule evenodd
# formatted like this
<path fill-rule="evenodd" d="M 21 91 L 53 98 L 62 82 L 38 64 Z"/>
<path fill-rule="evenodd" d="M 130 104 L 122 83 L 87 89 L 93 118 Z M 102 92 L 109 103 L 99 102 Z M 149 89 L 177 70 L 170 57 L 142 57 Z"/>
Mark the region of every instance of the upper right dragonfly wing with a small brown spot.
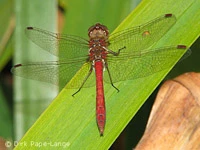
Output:
<path fill-rule="evenodd" d="M 122 51 L 126 53 L 145 50 L 161 39 L 175 22 L 174 15 L 166 14 L 141 26 L 111 34 L 108 49 L 117 52 L 125 47 Z"/>

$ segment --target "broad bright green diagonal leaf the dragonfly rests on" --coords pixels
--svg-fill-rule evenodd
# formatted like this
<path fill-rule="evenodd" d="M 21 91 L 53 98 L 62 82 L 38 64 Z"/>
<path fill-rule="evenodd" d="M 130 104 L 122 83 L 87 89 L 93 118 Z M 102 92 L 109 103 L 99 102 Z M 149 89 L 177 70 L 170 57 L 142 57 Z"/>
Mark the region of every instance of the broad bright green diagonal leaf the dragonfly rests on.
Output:
<path fill-rule="evenodd" d="M 177 17 L 176 24 L 153 48 L 178 44 L 189 47 L 200 33 L 199 8 L 200 1 L 196 0 L 142 1 L 115 31 L 172 13 Z M 178 58 L 169 61 L 175 64 Z M 28 144 L 27 149 L 38 149 L 39 146 L 43 149 L 108 149 L 171 68 L 145 78 L 119 82 L 115 84 L 119 93 L 111 85 L 105 85 L 107 117 L 103 137 L 96 125 L 95 87 L 92 87 L 81 89 L 75 97 L 71 95 L 76 90 L 63 89 L 21 142 Z M 16 147 L 21 148 L 20 145 Z"/>

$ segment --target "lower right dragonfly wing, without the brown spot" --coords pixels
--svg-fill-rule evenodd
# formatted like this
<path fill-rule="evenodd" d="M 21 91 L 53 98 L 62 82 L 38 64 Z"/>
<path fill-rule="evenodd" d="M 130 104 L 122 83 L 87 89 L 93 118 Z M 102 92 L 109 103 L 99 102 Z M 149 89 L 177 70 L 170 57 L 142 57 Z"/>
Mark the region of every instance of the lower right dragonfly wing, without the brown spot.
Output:
<path fill-rule="evenodd" d="M 142 78 L 171 67 L 174 62 L 169 60 L 176 60 L 184 51 L 186 46 L 178 45 L 142 52 L 121 53 L 108 59 L 108 69 L 113 83 Z M 105 81 L 110 83 L 108 74 L 105 73 L 104 76 Z"/>

